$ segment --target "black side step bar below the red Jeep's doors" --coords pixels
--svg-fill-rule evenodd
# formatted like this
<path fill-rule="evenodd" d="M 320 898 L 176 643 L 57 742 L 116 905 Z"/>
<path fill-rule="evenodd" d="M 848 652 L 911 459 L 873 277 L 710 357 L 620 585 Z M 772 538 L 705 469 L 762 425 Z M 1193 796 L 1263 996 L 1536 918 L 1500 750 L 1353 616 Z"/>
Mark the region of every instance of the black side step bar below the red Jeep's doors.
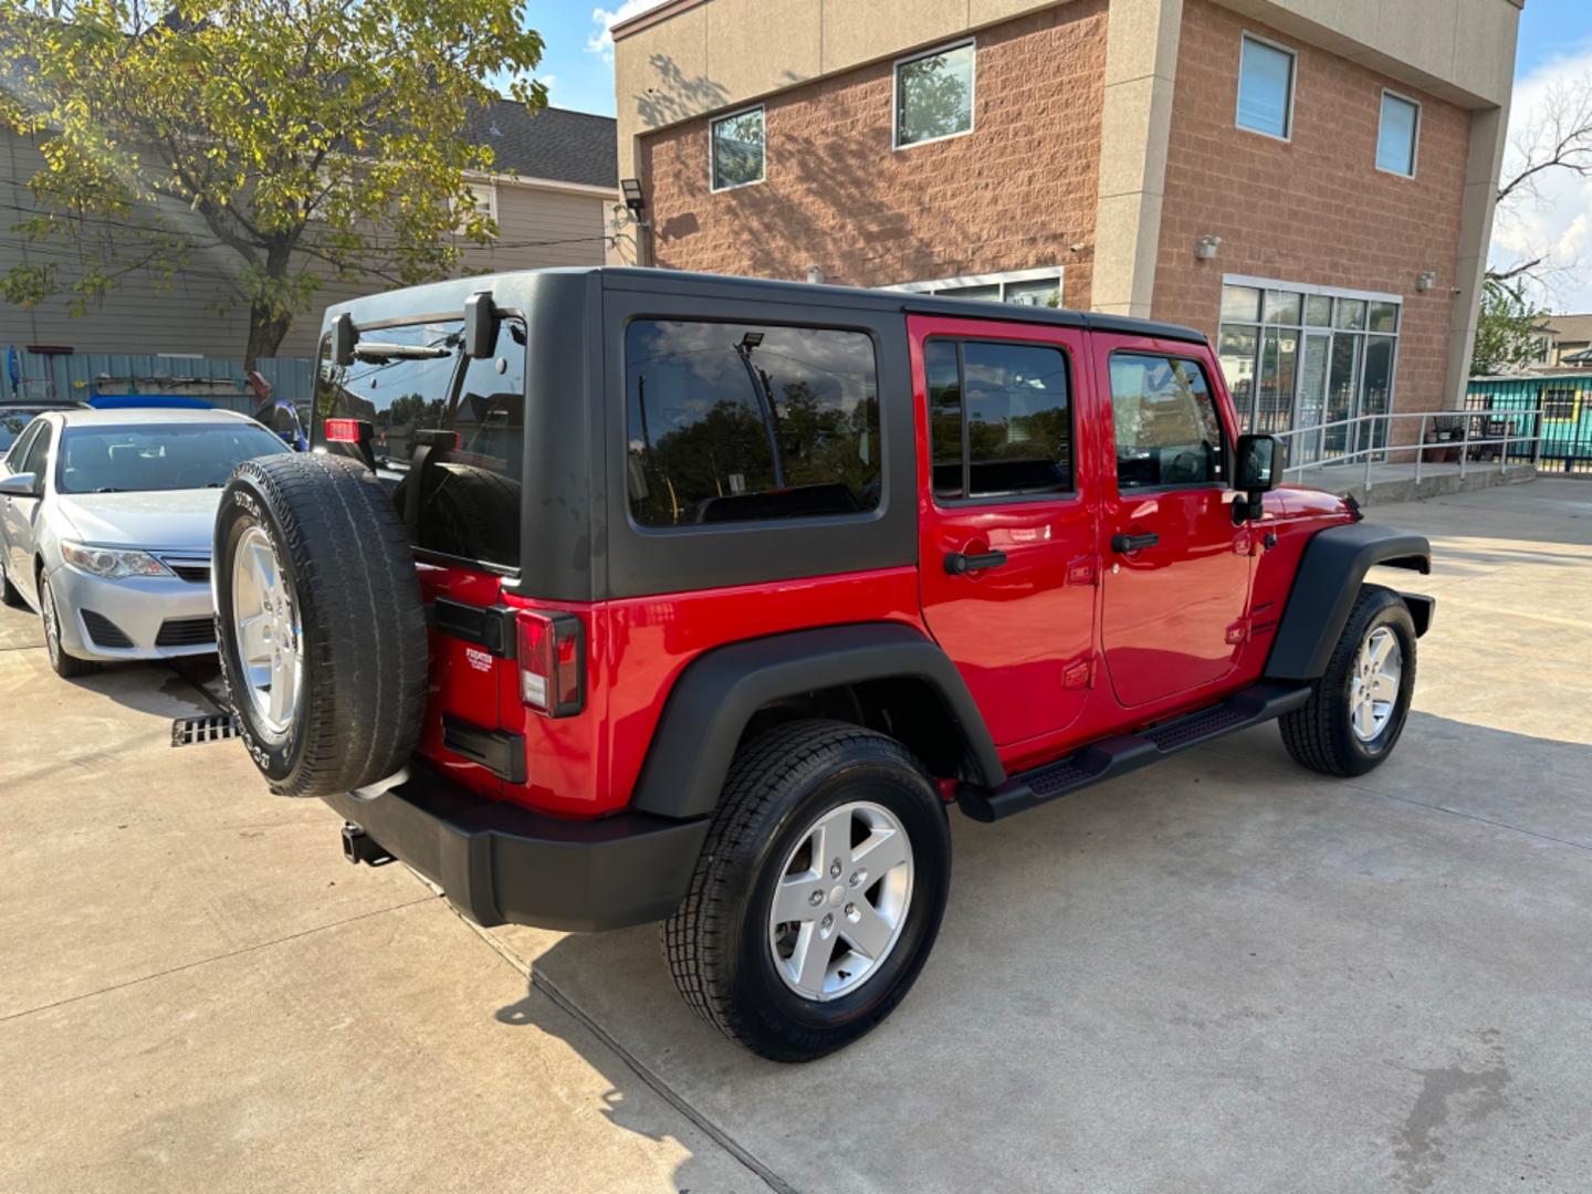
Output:
<path fill-rule="evenodd" d="M 1013 775 L 998 788 L 963 783 L 957 804 L 976 821 L 998 821 L 1092 783 L 1138 771 L 1180 750 L 1280 718 L 1309 699 L 1309 685 L 1254 685 L 1234 693 L 1219 705 L 1162 721 L 1138 734 L 1100 739 L 1065 759 Z"/>

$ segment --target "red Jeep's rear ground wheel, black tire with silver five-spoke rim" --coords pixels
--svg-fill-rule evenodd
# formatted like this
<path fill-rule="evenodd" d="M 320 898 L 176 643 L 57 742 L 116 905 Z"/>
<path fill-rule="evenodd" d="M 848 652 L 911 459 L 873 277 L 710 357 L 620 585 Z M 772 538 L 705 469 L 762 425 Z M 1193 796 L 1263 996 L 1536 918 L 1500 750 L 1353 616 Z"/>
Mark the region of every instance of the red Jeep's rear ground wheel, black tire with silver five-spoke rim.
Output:
<path fill-rule="evenodd" d="M 906 997 L 939 931 L 950 828 L 901 743 L 794 721 L 742 747 L 664 925 L 686 1003 L 777 1062 L 823 1057 Z"/>

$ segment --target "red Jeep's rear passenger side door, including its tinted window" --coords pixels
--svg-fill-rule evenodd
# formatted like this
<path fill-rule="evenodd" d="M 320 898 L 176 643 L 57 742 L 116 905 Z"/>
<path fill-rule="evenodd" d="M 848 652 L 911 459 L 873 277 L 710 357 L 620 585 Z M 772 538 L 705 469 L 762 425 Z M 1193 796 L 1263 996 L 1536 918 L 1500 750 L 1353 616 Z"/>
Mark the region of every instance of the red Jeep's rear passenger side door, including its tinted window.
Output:
<path fill-rule="evenodd" d="M 911 318 L 919 587 L 998 745 L 1065 728 L 1094 681 L 1094 471 L 1083 336 Z"/>

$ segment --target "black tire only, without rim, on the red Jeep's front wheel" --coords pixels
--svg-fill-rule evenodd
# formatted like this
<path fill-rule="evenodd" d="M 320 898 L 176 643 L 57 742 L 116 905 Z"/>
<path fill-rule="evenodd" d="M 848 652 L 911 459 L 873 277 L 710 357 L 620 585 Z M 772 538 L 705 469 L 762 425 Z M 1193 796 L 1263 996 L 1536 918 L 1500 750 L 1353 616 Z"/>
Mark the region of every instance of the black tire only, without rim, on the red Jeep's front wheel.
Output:
<path fill-rule="evenodd" d="M 1361 742 L 1348 721 L 1350 688 L 1360 645 L 1380 626 L 1391 629 L 1398 638 L 1403 673 L 1398 700 L 1387 726 L 1371 742 Z M 1344 622 L 1344 632 L 1333 648 L 1326 670 L 1310 686 L 1310 699 L 1278 720 L 1283 745 L 1296 763 L 1323 775 L 1364 775 L 1393 753 L 1399 734 L 1404 732 L 1414 691 L 1415 622 L 1409 607 L 1391 589 L 1364 584 L 1348 613 L 1348 621 Z"/>

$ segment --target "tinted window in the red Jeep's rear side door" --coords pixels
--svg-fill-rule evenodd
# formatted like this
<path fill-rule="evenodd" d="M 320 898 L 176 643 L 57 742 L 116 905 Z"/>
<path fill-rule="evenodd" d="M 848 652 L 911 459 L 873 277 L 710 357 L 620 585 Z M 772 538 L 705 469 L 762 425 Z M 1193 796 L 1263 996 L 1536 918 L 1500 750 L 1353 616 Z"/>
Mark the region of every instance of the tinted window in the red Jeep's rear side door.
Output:
<path fill-rule="evenodd" d="M 935 497 L 1071 492 L 1065 352 L 998 341 L 930 341 L 923 369 Z"/>

